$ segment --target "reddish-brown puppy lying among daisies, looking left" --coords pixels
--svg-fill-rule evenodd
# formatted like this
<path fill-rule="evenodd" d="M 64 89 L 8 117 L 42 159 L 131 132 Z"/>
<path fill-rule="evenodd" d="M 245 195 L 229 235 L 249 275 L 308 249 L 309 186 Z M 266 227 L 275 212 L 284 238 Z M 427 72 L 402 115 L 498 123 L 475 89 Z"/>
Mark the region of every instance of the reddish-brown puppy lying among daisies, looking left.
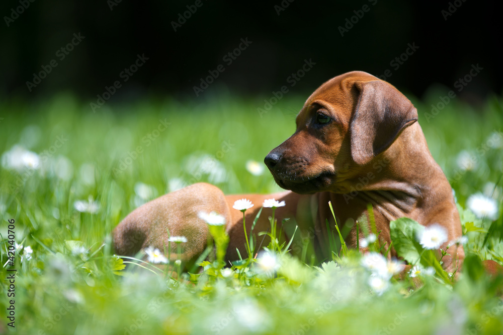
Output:
<path fill-rule="evenodd" d="M 461 236 L 461 223 L 452 189 L 416 121 L 412 103 L 387 82 L 364 72 L 332 78 L 307 99 L 295 133 L 265 158 L 278 185 L 290 191 L 226 196 L 209 184 L 188 186 L 129 214 L 114 230 L 115 250 L 120 255 L 134 255 L 147 246 L 163 250 L 169 229 L 172 236 L 187 237 L 183 260 L 190 262 L 207 245 L 208 228 L 198 213 L 216 211 L 226 218 L 230 236 L 226 258 L 237 259 L 236 248 L 241 255 L 246 251 L 242 214 L 232 209 L 235 200 L 247 198 L 255 204 L 245 212 L 249 234 L 263 201 L 272 197 L 286 203 L 276 211 L 278 222 L 294 219 L 284 230 L 297 224 L 301 234 L 313 239 L 318 260 L 331 257 L 329 236 L 335 228 L 329 201 L 338 224 L 346 225 L 346 243 L 352 247 L 363 237 L 361 226 L 357 236 L 354 222 L 369 222 L 368 204 L 387 246 L 389 222 L 400 217 L 424 226 L 440 224 L 447 229 L 448 242 L 453 241 Z M 255 232 L 269 229 L 270 215 L 271 209 L 265 208 Z M 444 267 L 453 272 L 464 251 L 454 245 L 449 254 Z M 396 254 L 391 250 L 390 255 Z"/>

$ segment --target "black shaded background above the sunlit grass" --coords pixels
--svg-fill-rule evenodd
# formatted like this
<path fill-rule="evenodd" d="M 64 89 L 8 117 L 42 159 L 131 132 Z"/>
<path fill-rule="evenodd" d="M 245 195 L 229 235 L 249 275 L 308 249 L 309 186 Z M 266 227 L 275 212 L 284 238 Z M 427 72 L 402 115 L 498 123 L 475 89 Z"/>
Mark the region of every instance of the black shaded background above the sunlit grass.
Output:
<path fill-rule="evenodd" d="M 35 0 L 9 27 L 6 17 L 12 17 L 12 9 L 21 5 L 19 0 L 4 0 L 0 5 L 0 98 L 43 98 L 71 90 L 79 98 L 93 101 L 105 86 L 122 80 L 119 74 L 134 63 L 137 54 L 149 59 L 111 101 L 145 94 L 204 99 L 221 90 L 269 97 L 273 90 L 287 85 L 287 78 L 301 69 L 304 59 L 312 59 L 316 65 L 294 88 L 302 94 L 347 71 L 379 76 L 390 70 L 390 83 L 421 98 L 435 83 L 453 89 L 477 63 L 483 70 L 458 94 L 460 99 L 477 104 L 488 94 L 501 94 L 503 30 L 496 2 L 201 2 L 175 32 L 172 21 L 178 21 L 179 14 L 188 11 L 186 6 L 194 5 L 195 0 L 122 0 L 112 10 L 112 0 Z M 275 6 L 282 3 L 288 7 L 278 15 Z M 364 5 L 368 12 L 341 36 L 339 27 L 352 17 L 355 22 L 354 11 Z M 450 6 L 456 11 L 446 20 Z M 65 59 L 57 59 L 56 51 L 71 41 L 73 33 L 85 39 Z M 252 43 L 227 65 L 222 57 L 241 38 Z M 419 48 L 395 69 L 390 62 L 406 51 L 408 43 Z M 26 82 L 33 81 L 34 73 L 51 59 L 58 66 L 29 92 Z M 200 85 L 200 78 L 219 64 L 225 71 L 196 97 L 194 85 Z"/>

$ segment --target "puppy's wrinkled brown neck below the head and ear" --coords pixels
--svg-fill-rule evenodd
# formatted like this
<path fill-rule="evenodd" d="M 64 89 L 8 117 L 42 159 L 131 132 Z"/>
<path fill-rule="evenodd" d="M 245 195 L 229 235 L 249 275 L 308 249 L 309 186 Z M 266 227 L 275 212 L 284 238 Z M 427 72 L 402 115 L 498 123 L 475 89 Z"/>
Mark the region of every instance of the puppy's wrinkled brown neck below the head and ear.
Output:
<path fill-rule="evenodd" d="M 372 204 L 389 221 L 404 216 L 424 219 L 420 217 L 424 211 L 416 209 L 435 205 L 425 204 L 425 199 L 452 197 L 445 191 L 451 187 L 418 123 L 404 129 L 390 148 L 358 170 L 356 176 L 340 183 L 344 198 Z M 446 194 L 432 196 L 439 192 Z"/>

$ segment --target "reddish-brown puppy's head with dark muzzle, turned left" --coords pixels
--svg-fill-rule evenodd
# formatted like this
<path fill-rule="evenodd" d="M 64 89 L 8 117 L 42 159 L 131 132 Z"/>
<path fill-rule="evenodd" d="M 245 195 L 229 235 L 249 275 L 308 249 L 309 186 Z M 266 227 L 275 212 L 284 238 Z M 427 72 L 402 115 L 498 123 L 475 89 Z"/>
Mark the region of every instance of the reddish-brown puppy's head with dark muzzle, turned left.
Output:
<path fill-rule="evenodd" d="M 349 72 L 311 94 L 295 133 L 264 162 L 283 188 L 344 193 L 341 183 L 373 164 L 415 121 L 417 110 L 392 85 Z"/>

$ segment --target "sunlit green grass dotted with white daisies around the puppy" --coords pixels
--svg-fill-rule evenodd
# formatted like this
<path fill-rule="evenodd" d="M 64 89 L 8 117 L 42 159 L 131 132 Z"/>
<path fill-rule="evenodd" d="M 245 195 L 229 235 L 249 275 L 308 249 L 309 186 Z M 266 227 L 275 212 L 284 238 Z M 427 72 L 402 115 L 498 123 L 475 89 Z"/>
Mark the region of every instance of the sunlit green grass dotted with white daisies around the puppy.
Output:
<path fill-rule="evenodd" d="M 226 193 L 279 190 L 269 173 L 252 175 L 245 163 L 262 162 L 293 133 L 303 97 L 285 97 L 263 117 L 260 100 L 224 96 L 145 99 L 97 113 L 70 94 L 37 104 L 0 103 L 0 152 L 19 144 L 41 160 L 35 170 L 0 167 L 2 264 L 10 245 L 7 220 L 15 220 L 15 240 L 25 247 L 0 271 L 0 333 L 501 333 L 501 279 L 483 276 L 480 259 L 503 262 L 503 100 L 491 97 L 476 109 L 451 101 L 432 119 L 424 113 L 441 93 L 413 102 L 455 190 L 470 270 L 454 284 L 440 274 L 425 276 L 420 289 L 392 279 L 381 295 L 369 289 L 370 274 L 354 250 L 313 266 L 280 252 L 275 274 L 260 273 L 256 262 L 232 273 L 208 262 L 204 274 L 181 281 L 147 264 L 153 272 L 124 271 L 110 251 L 109 234 L 125 215 L 177 185 L 207 181 Z M 462 151 L 471 157 L 471 170 L 458 165 Z M 498 202 L 494 221 L 466 209 L 467 198 L 484 189 Z M 75 203 L 90 197 L 97 212 L 78 212 Z M 31 258 L 22 259 L 28 246 Z M 7 269 L 17 270 L 15 329 L 8 326 L 14 298 L 8 298 Z"/>

